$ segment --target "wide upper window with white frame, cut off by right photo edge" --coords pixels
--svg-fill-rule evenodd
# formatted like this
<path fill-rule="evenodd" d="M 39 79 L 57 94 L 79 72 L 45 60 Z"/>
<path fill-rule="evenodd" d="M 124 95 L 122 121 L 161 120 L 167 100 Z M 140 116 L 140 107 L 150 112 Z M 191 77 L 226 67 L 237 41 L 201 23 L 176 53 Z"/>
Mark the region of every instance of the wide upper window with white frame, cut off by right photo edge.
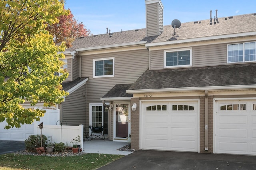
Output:
<path fill-rule="evenodd" d="M 256 61 L 256 42 L 228 45 L 228 63 Z"/>

